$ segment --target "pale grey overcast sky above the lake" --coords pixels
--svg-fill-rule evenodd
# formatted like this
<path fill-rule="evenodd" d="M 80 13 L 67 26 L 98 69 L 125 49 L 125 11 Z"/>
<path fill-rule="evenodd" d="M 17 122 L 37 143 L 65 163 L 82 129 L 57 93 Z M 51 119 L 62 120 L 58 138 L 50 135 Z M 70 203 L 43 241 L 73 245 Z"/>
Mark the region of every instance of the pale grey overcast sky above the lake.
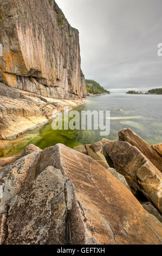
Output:
<path fill-rule="evenodd" d="M 79 29 L 85 77 L 112 88 L 162 87 L 162 0 L 56 0 Z"/>

